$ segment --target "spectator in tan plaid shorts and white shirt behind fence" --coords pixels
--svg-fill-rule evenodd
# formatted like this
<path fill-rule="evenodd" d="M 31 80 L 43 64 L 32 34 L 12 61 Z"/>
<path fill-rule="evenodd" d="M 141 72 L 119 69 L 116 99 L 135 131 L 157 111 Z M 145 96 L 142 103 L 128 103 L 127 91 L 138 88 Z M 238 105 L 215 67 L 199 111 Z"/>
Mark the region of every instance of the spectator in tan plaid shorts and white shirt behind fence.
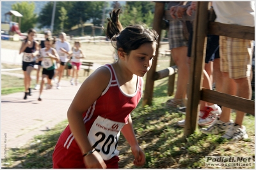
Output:
<path fill-rule="evenodd" d="M 255 26 L 255 3 L 253 1 L 213 1 L 212 6 L 217 17 L 215 22 Z M 220 69 L 225 82 L 223 93 L 251 99 L 252 48 L 251 40 L 220 36 Z M 222 107 L 220 118 L 209 128 L 203 128 L 200 131 L 205 134 L 225 132 L 221 137 L 230 140 L 230 143 L 247 139 L 248 134 L 243 125 L 245 113 L 237 110 L 236 120 L 233 123 L 233 120 L 230 120 L 231 111 L 230 108 Z"/>

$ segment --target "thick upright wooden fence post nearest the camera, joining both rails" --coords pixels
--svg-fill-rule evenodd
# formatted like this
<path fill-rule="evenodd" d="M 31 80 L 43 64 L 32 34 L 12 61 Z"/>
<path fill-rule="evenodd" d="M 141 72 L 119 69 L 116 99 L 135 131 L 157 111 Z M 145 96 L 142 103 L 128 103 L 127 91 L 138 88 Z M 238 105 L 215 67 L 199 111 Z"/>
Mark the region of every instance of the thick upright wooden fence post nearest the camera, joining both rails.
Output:
<path fill-rule="evenodd" d="M 202 90 L 202 73 L 205 60 L 204 44 L 205 36 L 207 36 L 208 3 L 209 2 L 198 1 L 196 7 L 197 10 L 193 25 L 193 43 L 184 136 L 193 134 L 198 127 L 200 90 Z"/>

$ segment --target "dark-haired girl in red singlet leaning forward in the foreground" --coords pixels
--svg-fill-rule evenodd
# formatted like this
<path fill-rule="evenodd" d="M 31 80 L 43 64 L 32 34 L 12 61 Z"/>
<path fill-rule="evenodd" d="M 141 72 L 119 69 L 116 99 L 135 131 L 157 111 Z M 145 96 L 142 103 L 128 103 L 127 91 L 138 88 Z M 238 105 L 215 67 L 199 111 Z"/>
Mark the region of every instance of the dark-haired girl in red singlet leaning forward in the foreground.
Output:
<path fill-rule="evenodd" d="M 108 35 L 114 23 L 108 24 Z M 69 124 L 52 155 L 54 168 L 118 168 L 120 132 L 131 146 L 134 165 L 145 164 L 130 113 L 141 99 L 141 77 L 152 66 L 158 34 L 141 25 L 114 33 L 109 38 L 113 45 L 115 41 L 118 60 L 99 67 L 78 90 L 68 108 Z"/>

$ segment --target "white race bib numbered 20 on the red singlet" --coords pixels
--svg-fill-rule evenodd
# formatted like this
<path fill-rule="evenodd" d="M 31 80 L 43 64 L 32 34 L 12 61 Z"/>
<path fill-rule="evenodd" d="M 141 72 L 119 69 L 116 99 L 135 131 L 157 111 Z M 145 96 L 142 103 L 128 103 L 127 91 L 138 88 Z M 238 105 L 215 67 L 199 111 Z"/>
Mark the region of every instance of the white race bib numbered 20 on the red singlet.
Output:
<path fill-rule="evenodd" d="M 88 139 L 92 147 L 99 152 L 102 159 L 109 160 L 113 156 L 118 155 L 119 151 L 116 150 L 116 147 L 120 131 L 124 125 L 124 123 L 115 122 L 100 116 L 94 121 L 88 134 Z"/>

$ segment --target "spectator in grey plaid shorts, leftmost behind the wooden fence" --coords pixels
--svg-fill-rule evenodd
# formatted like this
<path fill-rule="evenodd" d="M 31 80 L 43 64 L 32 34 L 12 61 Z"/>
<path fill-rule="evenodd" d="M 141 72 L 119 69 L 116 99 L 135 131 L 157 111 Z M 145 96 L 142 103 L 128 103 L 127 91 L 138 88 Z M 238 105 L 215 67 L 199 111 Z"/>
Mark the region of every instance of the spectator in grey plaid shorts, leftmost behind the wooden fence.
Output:
<path fill-rule="evenodd" d="M 172 13 L 173 9 L 182 2 L 168 3 L 168 9 Z M 186 106 L 186 92 L 189 76 L 187 64 L 188 39 L 184 36 L 183 22 L 180 20 L 170 20 L 168 30 L 168 41 L 172 53 L 172 59 L 178 68 L 178 78 L 175 96 L 166 102 L 166 106 L 177 109 L 179 106 Z"/>

